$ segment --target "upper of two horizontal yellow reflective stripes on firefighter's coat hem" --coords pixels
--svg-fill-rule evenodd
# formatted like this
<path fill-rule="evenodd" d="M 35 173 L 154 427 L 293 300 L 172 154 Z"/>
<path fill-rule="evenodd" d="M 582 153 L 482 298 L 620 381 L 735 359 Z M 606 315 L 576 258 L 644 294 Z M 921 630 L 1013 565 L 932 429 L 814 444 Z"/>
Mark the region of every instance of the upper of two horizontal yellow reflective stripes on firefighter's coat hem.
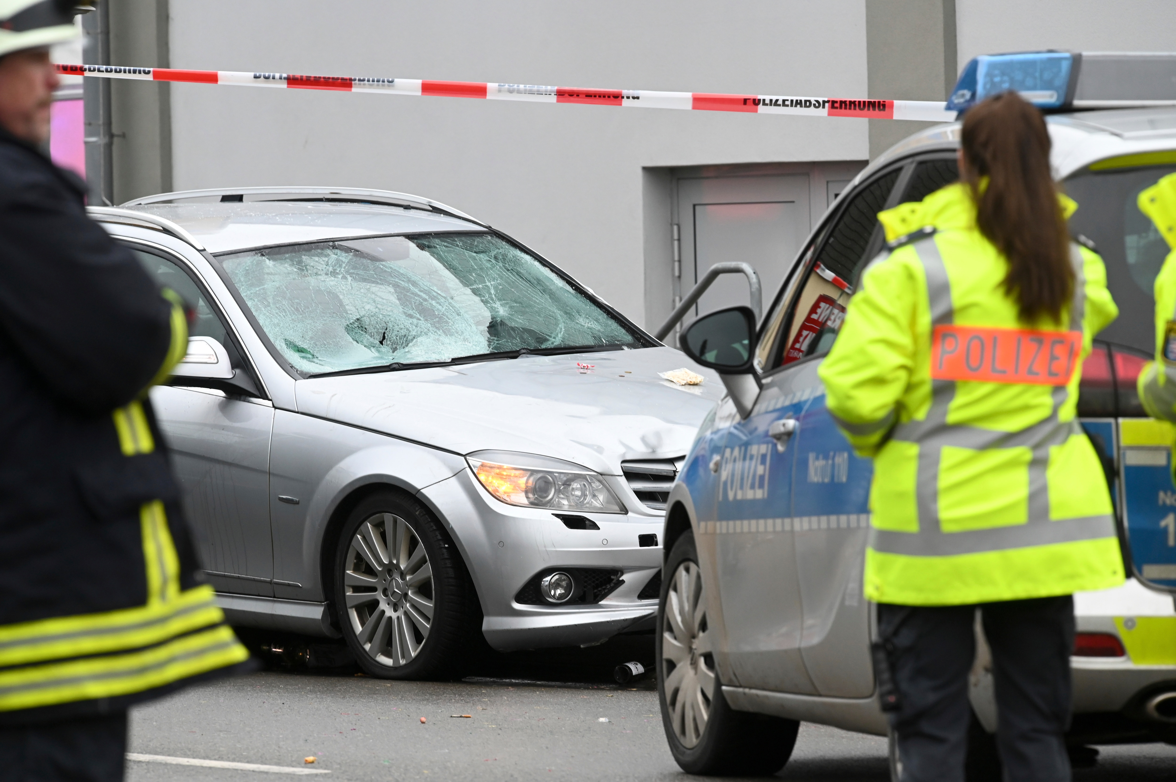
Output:
<path fill-rule="evenodd" d="M 88 626 L 79 627 L 79 619 L 88 620 Z M 101 622 L 95 626 L 95 620 Z M 29 622 L 16 626 L 24 630 L 24 637 L 11 637 L 13 634 L 4 628 L 0 631 L 0 667 L 138 649 L 223 621 L 225 614 L 216 604 L 213 588 L 202 584 L 151 610 L 135 608 Z"/>

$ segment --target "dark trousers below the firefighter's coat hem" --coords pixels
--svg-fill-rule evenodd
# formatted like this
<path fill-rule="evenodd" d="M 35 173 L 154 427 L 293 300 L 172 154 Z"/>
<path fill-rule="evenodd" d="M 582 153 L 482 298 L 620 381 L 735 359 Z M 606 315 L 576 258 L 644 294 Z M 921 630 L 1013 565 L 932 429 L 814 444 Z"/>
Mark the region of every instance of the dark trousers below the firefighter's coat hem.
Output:
<path fill-rule="evenodd" d="M 127 713 L 0 728 L 6 782 L 122 782 Z"/>

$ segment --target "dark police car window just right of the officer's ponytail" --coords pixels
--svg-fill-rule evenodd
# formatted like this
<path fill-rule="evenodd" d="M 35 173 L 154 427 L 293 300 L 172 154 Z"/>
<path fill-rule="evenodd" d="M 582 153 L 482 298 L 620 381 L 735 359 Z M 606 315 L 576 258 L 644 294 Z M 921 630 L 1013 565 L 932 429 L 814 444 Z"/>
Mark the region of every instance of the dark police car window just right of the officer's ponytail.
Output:
<path fill-rule="evenodd" d="M 1148 354 L 1155 350 L 1152 285 L 1170 248 L 1136 200 L 1172 172 L 1176 166 L 1084 171 L 1064 183 L 1078 203 L 1070 230 L 1094 241 L 1118 305 L 1118 318 L 1098 336 Z"/>

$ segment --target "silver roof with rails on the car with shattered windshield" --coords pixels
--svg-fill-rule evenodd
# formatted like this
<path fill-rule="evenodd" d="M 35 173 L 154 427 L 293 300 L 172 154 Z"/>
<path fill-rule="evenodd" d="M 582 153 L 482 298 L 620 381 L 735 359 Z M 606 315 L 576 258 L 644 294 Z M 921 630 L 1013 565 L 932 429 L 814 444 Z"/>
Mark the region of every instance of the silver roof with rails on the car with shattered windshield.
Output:
<path fill-rule="evenodd" d="M 473 218 L 427 199 L 346 188 L 165 193 L 131 201 L 118 212 L 122 216 L 141 212 L 163 218 L 211 253 L 356 236 L 487 229 Z"/>

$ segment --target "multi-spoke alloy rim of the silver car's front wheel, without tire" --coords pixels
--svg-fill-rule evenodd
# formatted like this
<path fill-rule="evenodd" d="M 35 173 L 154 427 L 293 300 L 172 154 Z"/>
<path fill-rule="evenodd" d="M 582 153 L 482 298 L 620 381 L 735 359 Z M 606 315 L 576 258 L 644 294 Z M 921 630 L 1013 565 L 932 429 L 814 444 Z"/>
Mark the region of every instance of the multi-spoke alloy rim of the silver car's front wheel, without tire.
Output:
<path fill-rule="evenodd" d="M 377 513 L 360 523 L 343 563 L 347 621 L 368 655 L 383 666 L 412 662 L 433 624 L 433 569 L 421 539 L 400 516 Z"/>

